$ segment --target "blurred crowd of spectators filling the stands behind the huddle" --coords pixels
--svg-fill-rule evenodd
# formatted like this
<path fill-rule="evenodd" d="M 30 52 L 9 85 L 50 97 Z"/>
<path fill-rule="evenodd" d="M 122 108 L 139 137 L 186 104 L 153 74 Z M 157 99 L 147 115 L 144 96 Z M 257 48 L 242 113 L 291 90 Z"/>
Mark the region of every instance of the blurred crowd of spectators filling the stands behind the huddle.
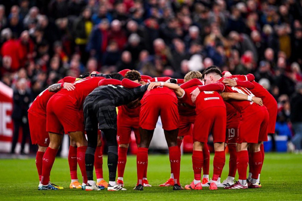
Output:
<path fill-rule="evenodd" d="M 291 139 L 295 133 L 292 140 L 302 149 L 301 0 L 0 4 L 1 81 L 28 91 L 31 100 L 59 78 L 85 72 L 136 69 L 183 78 L 217 65 L 233 74 L 253 73 L 278 101 L 277 126 L 286 132 L 277 134 Z"/>

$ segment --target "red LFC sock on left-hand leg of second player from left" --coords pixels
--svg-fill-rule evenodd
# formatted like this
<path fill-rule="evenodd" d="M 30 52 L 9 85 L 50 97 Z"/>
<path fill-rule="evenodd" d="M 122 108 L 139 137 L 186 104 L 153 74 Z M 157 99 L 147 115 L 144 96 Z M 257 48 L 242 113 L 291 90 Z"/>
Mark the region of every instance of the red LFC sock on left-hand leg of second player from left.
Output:
<path fill-rule="evenodd" d="M 54 164 L 54 159 L 56 158 L 57 152 L 58 149 L 52 149 L 48 147 L 43 155 L 41 183 L 44 186 L 48 185 L 50 171 L 52 165 Z"/>

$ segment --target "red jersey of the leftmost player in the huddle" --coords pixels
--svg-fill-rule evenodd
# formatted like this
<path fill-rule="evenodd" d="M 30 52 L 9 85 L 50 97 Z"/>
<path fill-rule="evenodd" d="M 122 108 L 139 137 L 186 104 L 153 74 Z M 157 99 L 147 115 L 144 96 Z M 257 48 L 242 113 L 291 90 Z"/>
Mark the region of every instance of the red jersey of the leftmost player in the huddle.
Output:
<path fill-rule="evenodd" d="M 67 76 L 58 81 L 58 83 L 62 82 L 74 82 L 76 78 Z M 63 89 L 61 89 L 63 90 Z M 32 102 L 31 106 L 28 109 L 28 112 L 39 113 L 46 117 L 46 106 L 49 99 L 55 94 L 55 92 L 50 92 L 47 89 L 42 91 Z"/>

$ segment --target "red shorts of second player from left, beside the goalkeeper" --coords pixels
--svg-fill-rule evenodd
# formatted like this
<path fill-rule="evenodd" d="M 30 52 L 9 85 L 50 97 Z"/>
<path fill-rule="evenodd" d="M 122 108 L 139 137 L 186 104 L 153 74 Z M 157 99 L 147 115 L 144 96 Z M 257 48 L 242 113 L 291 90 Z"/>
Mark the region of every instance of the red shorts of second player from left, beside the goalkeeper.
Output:
<path fill-rule="evenodd" d="M 83 111 L 64 96 L 53 95 L 46 107 L 46 130 L 57 134 L 84 132 Z"/>

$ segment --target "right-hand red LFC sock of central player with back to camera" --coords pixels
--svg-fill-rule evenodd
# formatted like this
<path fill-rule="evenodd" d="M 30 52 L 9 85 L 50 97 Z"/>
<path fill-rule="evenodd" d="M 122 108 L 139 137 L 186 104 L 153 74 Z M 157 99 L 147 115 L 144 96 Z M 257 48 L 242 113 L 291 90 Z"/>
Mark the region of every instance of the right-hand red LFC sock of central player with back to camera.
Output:
<path fill-rule="evenodd" d="M 169 159 L 171 164 L 171 171 L 174 175 L 174 184 L 180 185 L 180 150 L 178 146 L 169 147 Z"/>

